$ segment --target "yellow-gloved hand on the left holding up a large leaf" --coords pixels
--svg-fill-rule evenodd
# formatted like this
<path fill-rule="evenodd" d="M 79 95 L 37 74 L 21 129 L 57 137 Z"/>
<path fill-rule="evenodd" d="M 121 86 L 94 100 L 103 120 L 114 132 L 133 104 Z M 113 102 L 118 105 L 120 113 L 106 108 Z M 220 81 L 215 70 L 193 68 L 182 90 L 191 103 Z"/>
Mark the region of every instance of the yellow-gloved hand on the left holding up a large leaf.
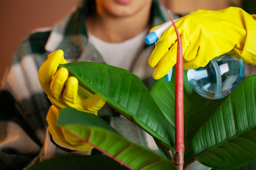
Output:
<path fill-rule="evenodd" d="M 97 115 L 97 111 L 105 104 L 105 99 L 100 95 L 92 95 L 89 91 L 78 86 L 78 80 L 76 77 L 68 78 L 68 70 L 64 67 L 59 68 L 56 72 L 59 64 L 68 63 L 64 59 L 64 53 L 62 50 L 57 50 L 48 55 L 48 59 L 39 68 L 38 79 L 45 93 L 47 94 L 51 103 L 55 106 L 51 106 L 47 115 L 47 121 L 49 124 L 50 133 L 54 140 L 77 150 L 90 150 L 92 147 L 88 144 L 74 144 L 76 141 L 74 137 L 65 136 L 65 131 L 58 125 L 56 120 L 59 112 L 62 108 L 72 107 L 83 112 L 89 112 Z M 55 73 L 56 72 L 56 73 Z M 79 93 L 78 93 L 79 91 Z M 53 112 L 55 111 L 55 112 Z M 54 117 L 52 115 L 56 115 Z"/>

